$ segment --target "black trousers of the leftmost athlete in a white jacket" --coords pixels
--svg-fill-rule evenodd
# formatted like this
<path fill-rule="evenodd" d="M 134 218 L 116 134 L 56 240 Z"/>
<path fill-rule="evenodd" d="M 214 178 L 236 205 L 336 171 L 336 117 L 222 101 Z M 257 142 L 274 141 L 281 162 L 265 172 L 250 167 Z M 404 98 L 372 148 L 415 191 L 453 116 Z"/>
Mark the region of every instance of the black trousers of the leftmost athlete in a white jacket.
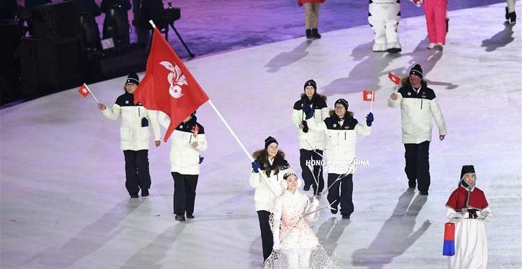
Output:
<path fill-rule="evenodd" d="M 137 195 L 140 189 L 148 190 L 150 188 L 148 154 L 148 149 L 123 151 L 123 156 L 125 156 L 125 188 L 127 188 L 129 195 Z"/>

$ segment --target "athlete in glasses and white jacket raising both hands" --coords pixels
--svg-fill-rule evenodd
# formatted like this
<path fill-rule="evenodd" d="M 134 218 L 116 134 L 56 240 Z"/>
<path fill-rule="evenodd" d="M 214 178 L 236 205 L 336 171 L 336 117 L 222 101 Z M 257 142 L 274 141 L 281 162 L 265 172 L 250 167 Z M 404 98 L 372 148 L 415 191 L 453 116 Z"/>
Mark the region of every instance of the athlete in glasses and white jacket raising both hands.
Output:
<path fill-rule="evenodd" d="M 335 101 L 335 111 L 321 124 L 307 120 L 312 130 L 321 130 L 326 133 L 326 170 L 328 171 L 328 201 L 331 212 L 338 212 L 341 204 L 342 218 L 349 219 L 354 212 L 354 202 L 351 199 L 354 182 L 352 176 L 355 171 L 355 147 L 357 134 L 369 136 L 372 132 L 373 113 L 366 116 L 366 125 L 354 119 L 354 113 L 348 111 L 348 101 Z M 306 117 L 311 119 L 311 111 L 305 111 Z"/>

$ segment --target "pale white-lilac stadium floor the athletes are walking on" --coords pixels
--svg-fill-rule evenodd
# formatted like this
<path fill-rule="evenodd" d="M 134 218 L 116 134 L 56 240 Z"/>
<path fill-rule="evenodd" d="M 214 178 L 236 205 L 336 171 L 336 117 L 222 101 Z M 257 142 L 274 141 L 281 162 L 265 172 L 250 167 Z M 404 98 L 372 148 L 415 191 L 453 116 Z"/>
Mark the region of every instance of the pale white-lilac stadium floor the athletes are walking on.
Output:
<path fill-rule="evenodd" d="M 487 224 L 490 268 L 522 267 L 521 22 L 503 25 L 505 4 L 450 13 L 443 54 L 425 49 L 423 17 L 400 25 L 403 53 L 371 52 L 367 26 L 198 58 L 187 65 L 249 151 L 266 136 L 299 169 L 292 104 L 313 78 L 331 106 L 343 97 L 363 119 L 361 90 L 377 90 L 374 129 L 358 140 L 370 161 L 354 175 L 351 220 L 324 211 L 313 228 L 343 268 L 445 268 L 444 204 L 461 165 L 495 218 Z M 517 13 L 522 14 L 521 3 Z M 388 71 L 420 63 L 438 95 L 448 136 L 431 147 L 427 199 L 406 192 L 400 111 L 388 108 Z M 106 104 L 123 79 L 90 85 Z M 249 161 L 209 105 L 198 111 L 204 154 L 196 218 L 173 221 L 169 145 L 150 150 L 150 197 L 125 190 L 119 122 L 76 89 L 0 111 L 1 268 L 259 268 L 262 254 Z M 324 203 L 324 201 L 322 201 Z M 410 204 L 411 203 L 411 204 Z"/>

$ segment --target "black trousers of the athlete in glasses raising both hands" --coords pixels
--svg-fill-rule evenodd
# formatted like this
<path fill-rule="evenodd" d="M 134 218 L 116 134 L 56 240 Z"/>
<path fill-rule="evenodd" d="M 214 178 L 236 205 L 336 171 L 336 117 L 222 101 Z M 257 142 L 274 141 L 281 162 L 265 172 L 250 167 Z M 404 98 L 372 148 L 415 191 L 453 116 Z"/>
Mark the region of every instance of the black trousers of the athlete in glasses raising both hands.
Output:
<path fill-rule="evenodd" d="M 338 205 L 341 204 L 341 214 L 342 215 L 350 215 L 354 212 L 354 202 L 351 200 L 351 195 L 354 192 L 354 181 L 351 179 L 353 174 L 347 174 L 345 177 L 342 177 L 340 180 L 333 183 L 340 174 L 328 174 L 328 187 L 333 187 L 328 191 L 328 202 L 331 204 L 331 207 L 334 209 L 338 208 Z"/>

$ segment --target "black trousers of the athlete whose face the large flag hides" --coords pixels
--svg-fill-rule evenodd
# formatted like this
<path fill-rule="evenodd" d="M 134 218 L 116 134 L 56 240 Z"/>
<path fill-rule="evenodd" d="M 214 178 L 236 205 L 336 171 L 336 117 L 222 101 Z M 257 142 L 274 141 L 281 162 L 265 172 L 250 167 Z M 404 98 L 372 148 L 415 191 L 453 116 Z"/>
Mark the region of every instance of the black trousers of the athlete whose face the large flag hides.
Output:
<path fill-rule="evenodd" d="M 171 172 L 171 174 L 174 179 L 174 213 L 184 214 L 187 212 L 187 215 L 193 215 L 199 175 L 180 174 L 178 172 Z"/>

